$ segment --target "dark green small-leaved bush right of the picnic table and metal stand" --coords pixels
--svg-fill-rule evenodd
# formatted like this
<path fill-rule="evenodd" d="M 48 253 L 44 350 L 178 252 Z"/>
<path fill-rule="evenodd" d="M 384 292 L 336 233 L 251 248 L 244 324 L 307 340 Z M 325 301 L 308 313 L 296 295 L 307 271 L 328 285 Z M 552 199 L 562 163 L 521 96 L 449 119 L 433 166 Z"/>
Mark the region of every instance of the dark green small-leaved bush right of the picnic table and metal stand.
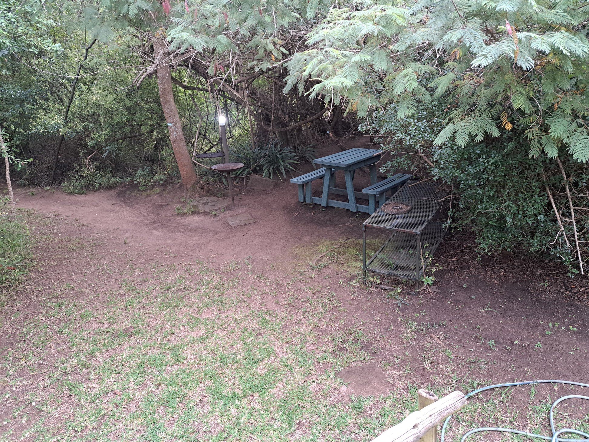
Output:
<path fill-rule="evenodd" d="M 472 230 L 479 252 L 558 256 L 576 272 L 571 250 L 558 235 L 545 191 L 547 184 L 554 187 L 554 197 L 562 203 L 558 190 L 562 178 L 554 163 L 530 158 L 521 149 L 525 140 L 517 131 L 504 131 L 500 137 L 464 147 L 449 141 L 434 146 L 444 125 L 439 116 L 447 108 L 446 104 L 432 103 L 419 107 L 410 117 L 398 118 L 397 106 L 391 105 L 364 123 L 363 129 L 372 131 L 383 149 L 395 153 L 382 170 L 391 174 L 397 169 L 419 171 L 422 177 L 432 177 L 452 189 L 456 196 L 452 225 Z M 572 160 L 564 164 L 573 178 L 571 183 L 581 189 L 589 181 L 585 168 Z M 583 221 L 587 222 L 581 217 L 581 231 Z M 572 237 L 572 232 L 568 233 Z"/>

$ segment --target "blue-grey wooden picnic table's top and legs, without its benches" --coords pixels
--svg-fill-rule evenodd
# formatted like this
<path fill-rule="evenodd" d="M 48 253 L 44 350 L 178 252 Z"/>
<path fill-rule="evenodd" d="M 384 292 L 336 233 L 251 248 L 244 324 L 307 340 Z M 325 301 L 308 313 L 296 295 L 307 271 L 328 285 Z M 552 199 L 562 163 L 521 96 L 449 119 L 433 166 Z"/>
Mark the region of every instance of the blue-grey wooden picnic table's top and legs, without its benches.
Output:
<path fill-rule="evenodd" d="M 368 166 L 370 170 L 370 184 L 376 183 L 376 163 L 382 156 L 382 150 L 377 149 L 354 149 L 317 158 L 313 161 L 316 166 L 325 167 L 325 177 L 323 178 L 323 195 L 322 197 L 313 197 L 313 203 L 321 204 L 323 207 L 332 206 L 340 209 L 348 209 L 352 212 L 368 212 L 368 206 L 356 203 L 356 198 L 368 199 L 368 195 L 362 192 L 354 191 L 354 172 L 360 167 Z M 346 189 L 335 187 L 335 172 L 343 171 L 346 180 Z M 338 201 L 329 199 L 329 193 L 347 195 L 348 201 Z"/>

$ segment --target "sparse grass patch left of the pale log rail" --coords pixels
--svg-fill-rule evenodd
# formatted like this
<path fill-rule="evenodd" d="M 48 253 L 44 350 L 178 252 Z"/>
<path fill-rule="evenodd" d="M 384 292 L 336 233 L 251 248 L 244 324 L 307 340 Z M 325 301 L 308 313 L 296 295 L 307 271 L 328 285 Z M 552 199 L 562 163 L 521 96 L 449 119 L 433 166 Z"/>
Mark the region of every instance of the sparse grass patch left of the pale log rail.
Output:
<path fill-rule="evenodd" d="M 19 428 L 32 440 L 351 441 L 412 406 L 404 395 L 340 400 L 336 370 L 318 367 L 347 365 L 358 332 L 334 337 L 334 352 L 204 266 L 151 275 L 98 301 L 52 300 L 27 319 L 2 381 L 19 388 L 43 367 L 44 387 L 10 398 L 0 440 Z M 55 346 L 66 351 L 39 365 Z"/>

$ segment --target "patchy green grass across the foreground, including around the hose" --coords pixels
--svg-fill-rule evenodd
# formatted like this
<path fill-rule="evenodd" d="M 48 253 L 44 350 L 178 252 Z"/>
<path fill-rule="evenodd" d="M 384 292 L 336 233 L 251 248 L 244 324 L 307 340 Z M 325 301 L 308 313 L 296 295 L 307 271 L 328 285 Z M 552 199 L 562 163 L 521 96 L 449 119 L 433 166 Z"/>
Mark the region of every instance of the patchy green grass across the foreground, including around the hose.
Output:
<path fill-rule="evenodd" d="M 60 241 L 68 249 L 71 238 Z M 255 291 L 226 278 L 247 268 L 247 259 L 222 273 L 201 262 L 128 266 L 112 266 L 108 274 L 118 285 L 109 290 L 90 297 L 58 291 L 21 322 L 7 318 L 18 326 L 4 328 L 12 343 L 0 348 L 0 442 L 369 441 L 416 408 L 424 385 L 399 378 L 395 367 L 388 396 L 342 397 L 337 372 L 368 361 L 370 337 L 361 321 L 323 335 L 312 325 L 333 320 L 330 312 L 341 306 L 333 292 L 312 286 L 302 295 L 301 318 L 260 307 Z M 94 276 L 76 281 L 76 293 L 104 275 Z M 405 325 L 412 335 L 438 326 L 418 318 Z M 448 372 L 435 392 L 441 397 L 488 383 L 471 376 L 468 369 Z M 447 440 L 478 425 L 548 434 L 548 398 L 579 392 L 511 391 L 472 398 Z M 558 425 L 586 428 L 585 404 L 573 405 L 557 410 Z"/>

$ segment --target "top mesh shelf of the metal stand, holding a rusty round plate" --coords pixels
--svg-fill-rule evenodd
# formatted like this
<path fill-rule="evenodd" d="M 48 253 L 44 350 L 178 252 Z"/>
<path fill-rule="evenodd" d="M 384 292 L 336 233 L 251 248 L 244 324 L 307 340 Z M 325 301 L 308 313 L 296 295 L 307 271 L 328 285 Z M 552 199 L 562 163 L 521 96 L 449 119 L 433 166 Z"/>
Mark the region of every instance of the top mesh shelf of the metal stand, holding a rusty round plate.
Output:
<path fill-rule="evenodd" d="M 364 225 L 413 234 L 421 233 L 441 206 L 442 196 L 444 194 L 432 184 L 409 181 L 388 199 L 388 202 L 409 204 L 411 210 L 408 213 L 392 215 L 378 209 L 370 215 Z"/>

